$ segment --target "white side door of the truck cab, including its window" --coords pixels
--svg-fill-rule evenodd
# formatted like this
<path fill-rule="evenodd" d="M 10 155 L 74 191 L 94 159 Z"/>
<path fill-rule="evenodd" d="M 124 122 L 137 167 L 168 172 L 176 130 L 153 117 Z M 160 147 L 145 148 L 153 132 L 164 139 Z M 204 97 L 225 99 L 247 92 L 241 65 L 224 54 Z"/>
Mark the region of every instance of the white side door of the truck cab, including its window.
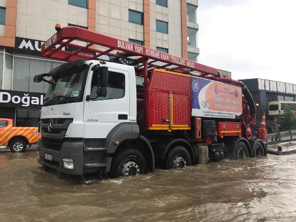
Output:
<path fill-rule="evenodd" d="M 117 124 L 129 122 L 129 73 L 109 68 L 107 95 L 96 97 L 98 88 L 96 70 L 91 71 L 84 100 L 84 138 L 106 138 Z"/>

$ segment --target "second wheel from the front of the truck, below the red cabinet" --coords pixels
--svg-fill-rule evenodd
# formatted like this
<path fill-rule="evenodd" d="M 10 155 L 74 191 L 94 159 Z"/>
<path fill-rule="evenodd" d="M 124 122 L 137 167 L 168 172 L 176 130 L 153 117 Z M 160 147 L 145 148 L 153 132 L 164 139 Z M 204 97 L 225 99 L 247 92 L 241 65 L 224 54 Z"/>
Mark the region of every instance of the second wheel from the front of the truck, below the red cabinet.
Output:
<path fill-rule="evenodd" d="M 190 165 L 190 154 L 185 147 L 176 146 L 172 148 L 166 157 L 166 169 L 183 168 Z"/>

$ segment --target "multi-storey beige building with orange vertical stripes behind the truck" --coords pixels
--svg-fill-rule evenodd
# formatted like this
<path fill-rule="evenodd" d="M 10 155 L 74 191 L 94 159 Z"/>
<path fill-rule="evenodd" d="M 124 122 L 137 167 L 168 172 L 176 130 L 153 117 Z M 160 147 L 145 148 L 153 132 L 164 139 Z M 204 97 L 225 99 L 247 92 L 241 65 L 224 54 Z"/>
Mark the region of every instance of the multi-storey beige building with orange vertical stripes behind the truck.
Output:
<path fill-rule="evenodd" d="M 33 78 L 62 64 L 40 55 L 56 23 L 198 61 L 197 8 L 198 0 L 0 0 L 0 117 L 36 126 L 47 84 Z"/>

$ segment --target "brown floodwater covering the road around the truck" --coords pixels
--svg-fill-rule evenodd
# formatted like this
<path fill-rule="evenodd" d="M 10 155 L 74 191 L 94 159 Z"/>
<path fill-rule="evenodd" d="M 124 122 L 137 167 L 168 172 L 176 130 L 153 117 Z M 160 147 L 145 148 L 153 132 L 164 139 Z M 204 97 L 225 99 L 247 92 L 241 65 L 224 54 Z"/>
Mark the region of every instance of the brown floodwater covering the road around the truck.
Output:
<path fill-rule="evenodd" d="M 80 185 L 0 153 L 1 222 L 296 220 L 296 154 L 156 170 Z"/>

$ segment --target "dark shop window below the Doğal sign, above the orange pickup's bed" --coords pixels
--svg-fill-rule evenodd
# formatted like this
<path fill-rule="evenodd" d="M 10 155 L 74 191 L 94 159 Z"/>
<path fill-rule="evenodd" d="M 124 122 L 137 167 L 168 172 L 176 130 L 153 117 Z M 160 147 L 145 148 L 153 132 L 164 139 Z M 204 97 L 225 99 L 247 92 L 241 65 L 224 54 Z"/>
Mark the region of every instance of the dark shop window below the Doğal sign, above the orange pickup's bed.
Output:
<path fill-rule="evenodd" d="M 40 110 L 17 109 L 16 127 L 37 127 L 40 121 Z"/>

